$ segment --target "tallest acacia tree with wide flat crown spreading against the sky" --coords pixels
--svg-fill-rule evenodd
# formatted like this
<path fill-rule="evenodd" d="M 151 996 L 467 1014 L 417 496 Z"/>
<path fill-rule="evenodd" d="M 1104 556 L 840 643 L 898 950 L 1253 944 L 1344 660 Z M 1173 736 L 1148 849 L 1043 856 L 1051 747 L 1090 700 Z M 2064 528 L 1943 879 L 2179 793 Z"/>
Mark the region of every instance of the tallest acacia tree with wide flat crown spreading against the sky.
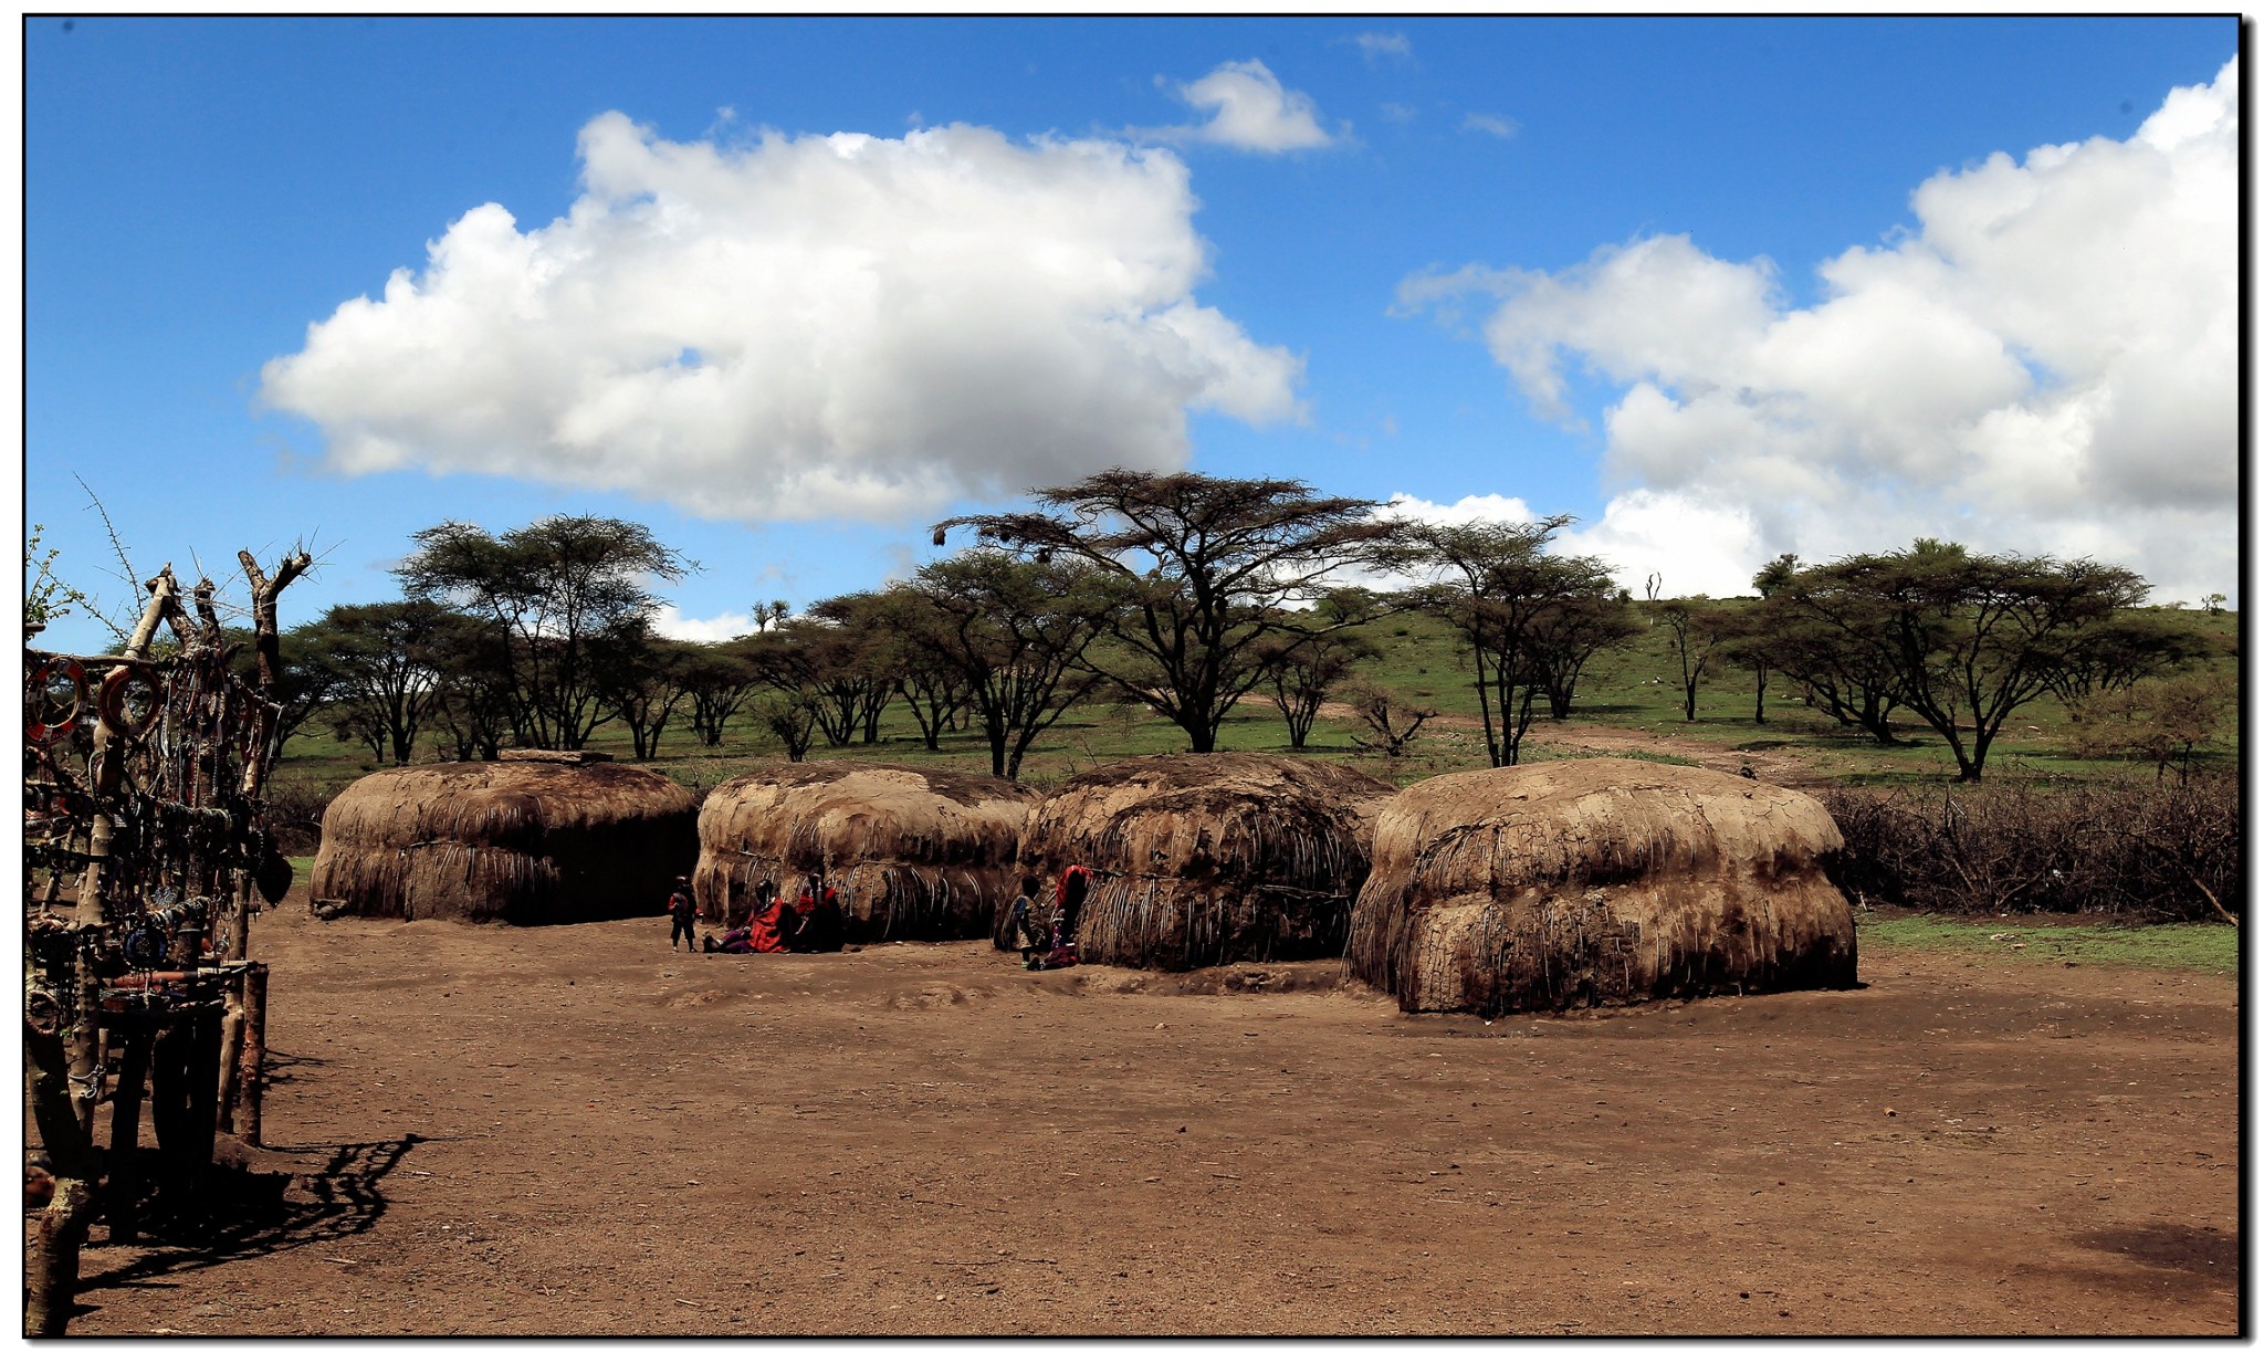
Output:
<path fill-rule="evenodd" d="M 1082 559 L 1116 584 L 1107 621 L 1109 684 L 1155 709 L 1189 747 L 1218 747 L 1218 725 L 1261 679 L 1259 643 L 1347 627 L 1300 627 L 1288 607 L 1322 593 L 1329 573 L 1397 525 L 1377 503 L 1322 498 L 1297 480 L 1109 469 L 1039 489 L 1039 512 L 953 516 L 980 541 L 1032 562 Z M 1300 639 L 1297 634 L 1304 634 Z"/>

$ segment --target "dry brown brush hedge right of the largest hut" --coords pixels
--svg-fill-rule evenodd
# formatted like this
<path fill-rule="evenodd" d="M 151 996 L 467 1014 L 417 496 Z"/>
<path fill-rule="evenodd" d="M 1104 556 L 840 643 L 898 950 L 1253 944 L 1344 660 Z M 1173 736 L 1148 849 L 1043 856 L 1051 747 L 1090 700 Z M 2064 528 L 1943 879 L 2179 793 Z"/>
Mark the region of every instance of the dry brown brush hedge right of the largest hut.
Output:
<path fill-rule="evenodd" d="M 1820 797 L 1847 840 L 1834 881 L 1863 901 L 2158 919 L 2239 910 L 2235 775 L 1936 793 L 1832 788 Z"/>

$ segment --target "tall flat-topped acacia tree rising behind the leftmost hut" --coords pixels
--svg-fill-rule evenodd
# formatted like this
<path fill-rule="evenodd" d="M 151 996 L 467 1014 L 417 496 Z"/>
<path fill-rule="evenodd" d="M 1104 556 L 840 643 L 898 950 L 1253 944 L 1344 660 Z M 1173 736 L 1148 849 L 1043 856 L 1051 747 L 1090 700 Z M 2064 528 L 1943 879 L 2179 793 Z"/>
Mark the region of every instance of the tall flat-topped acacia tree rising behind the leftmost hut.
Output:
<path fill-rule="evenodd" d="M 537 747 L 577 750 L 614 718 L 602 691 L 604 643 L 659 609 L 648 577 L 693 568 L 634 521 L 546 516 L 494 537 L 444 521 L 414 534 L 396 573 L 412 598 L 455 605 L 505 639 L 512 722 Z"/>

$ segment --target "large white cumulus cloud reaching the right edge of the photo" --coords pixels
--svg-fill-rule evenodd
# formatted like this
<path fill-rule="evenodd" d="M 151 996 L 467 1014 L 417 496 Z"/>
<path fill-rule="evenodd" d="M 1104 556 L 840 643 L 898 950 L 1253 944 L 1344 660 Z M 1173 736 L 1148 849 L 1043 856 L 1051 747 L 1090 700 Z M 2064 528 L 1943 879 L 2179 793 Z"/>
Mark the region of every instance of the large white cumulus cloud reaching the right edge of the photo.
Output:
<path fill-rule="evenodd" d="M 1583 532 L 1669 591 L 1746 589 L 1768 557 L 1897 548 L 2094 555 L 2160 598 L 2237 584 L 2239 72 L 2173 91 L 2128 140 L 1943 170 L 1915 224 L 1777 269 L 1684 236 L 1560 272 L 1413 276 L 1401 310 L 1492 308 L 1487 346 L 1544 417 L 1567 369 L 1623 485 Z"/>

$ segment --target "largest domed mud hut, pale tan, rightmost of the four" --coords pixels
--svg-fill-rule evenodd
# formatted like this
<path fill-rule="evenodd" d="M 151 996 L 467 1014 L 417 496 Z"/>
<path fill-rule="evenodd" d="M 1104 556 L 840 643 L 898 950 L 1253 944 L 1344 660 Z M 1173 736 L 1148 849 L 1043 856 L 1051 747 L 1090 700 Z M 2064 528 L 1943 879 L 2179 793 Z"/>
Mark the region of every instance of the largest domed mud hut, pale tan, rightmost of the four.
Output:
<path fill-rule="evenodd" d="M 1646 761 L 1440 775 L 1377 818 L 1352 974 L 1408 1012 L 1854 985 L 1804 793 Z"/>

